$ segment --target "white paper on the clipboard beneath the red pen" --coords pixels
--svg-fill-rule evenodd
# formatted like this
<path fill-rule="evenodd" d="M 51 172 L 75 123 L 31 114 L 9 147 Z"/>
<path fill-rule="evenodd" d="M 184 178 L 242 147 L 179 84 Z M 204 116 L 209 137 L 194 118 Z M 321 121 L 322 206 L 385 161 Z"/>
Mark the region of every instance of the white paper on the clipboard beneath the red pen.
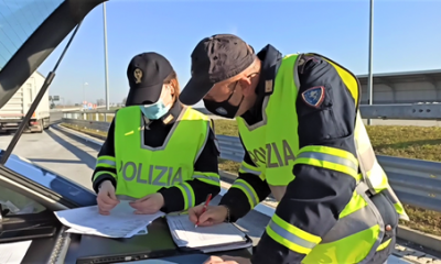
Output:
<path fill-rule="evenodd" d="M 180 248 L 204 248 L 246 241 L 245 233 L 232 223 L 196 228 L 189 216 L 166 217 L 166 221 L 173 240 Z"/>

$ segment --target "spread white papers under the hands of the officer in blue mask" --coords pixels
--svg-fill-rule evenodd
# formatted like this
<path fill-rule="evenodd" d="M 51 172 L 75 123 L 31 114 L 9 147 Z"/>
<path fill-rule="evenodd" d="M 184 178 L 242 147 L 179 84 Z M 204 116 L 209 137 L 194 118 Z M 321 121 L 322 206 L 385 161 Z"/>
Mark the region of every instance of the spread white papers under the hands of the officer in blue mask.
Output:
<path fill-rule="evenodd" d="M 66 232 L 92 234 L 106 238 L 131 238 L 139 233 L 147 233 L 147 226 L 163 212 L 154 215 L 135 215 L 129 201 L 120 201 L 110 216 L 98 213 L 98 207 L 83 207 L 71 210 L 56 211 L 55 216 L 71 229 Z"/>

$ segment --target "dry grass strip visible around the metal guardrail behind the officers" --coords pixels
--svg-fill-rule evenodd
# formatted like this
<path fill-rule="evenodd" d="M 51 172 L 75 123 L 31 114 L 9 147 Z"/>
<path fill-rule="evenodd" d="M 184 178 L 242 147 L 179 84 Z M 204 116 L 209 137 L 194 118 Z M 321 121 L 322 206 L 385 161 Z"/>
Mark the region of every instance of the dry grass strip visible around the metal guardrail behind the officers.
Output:
<path fill-rule="evenodd" d="M 376 125 L 366 129 L 376 154 L 441 162 L 441 128 Z M 92 135 L 94 133 L 99 136 L 106 135 L 105 132 L 80 130 Z M 237 124 L 230 120 L 215 120 L 215 130 L 216 134 L 238 135 Z M 239 163 L 219 160 L 222 170 L 236 174 L 239 166 Z M 402 224 L 422 232 L 441 235 L 440 212 L 407 205 L 405 207 L 410 221 L 402 222 Z"/>

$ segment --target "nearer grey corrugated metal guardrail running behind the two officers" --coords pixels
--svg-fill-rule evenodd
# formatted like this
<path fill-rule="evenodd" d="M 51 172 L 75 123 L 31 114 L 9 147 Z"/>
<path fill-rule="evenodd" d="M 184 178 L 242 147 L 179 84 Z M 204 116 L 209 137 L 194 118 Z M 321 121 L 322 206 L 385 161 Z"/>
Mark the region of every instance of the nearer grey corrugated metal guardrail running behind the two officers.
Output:
<path fill-rule="evenodd" d="M 108 131 L 110 123 L 63 118 L 64 123 Z M 220 158 L 240 163 L 244 148 L 236 136 L 217 135 Z M 441 212 L 441 163 L 377 155 L 399 199 L 410 206 Z"/>

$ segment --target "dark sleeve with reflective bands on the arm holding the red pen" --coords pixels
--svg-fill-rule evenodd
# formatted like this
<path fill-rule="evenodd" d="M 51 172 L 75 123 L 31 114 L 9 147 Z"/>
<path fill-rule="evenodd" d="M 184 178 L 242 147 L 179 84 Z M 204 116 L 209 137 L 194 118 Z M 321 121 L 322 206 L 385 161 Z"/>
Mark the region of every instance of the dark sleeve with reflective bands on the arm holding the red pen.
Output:
<path fill-rule="evenodd" d="M 245 148 L 244 142 L 241 145 Z M 235 222 L 245 217 L 260 201 L 265 200 L 271 190 L 248 152 L 245 151 L 244 161 L 239 168 L 239 177 L 222 198 L 219 205 L 229 209 L 229 221 Z"/>

